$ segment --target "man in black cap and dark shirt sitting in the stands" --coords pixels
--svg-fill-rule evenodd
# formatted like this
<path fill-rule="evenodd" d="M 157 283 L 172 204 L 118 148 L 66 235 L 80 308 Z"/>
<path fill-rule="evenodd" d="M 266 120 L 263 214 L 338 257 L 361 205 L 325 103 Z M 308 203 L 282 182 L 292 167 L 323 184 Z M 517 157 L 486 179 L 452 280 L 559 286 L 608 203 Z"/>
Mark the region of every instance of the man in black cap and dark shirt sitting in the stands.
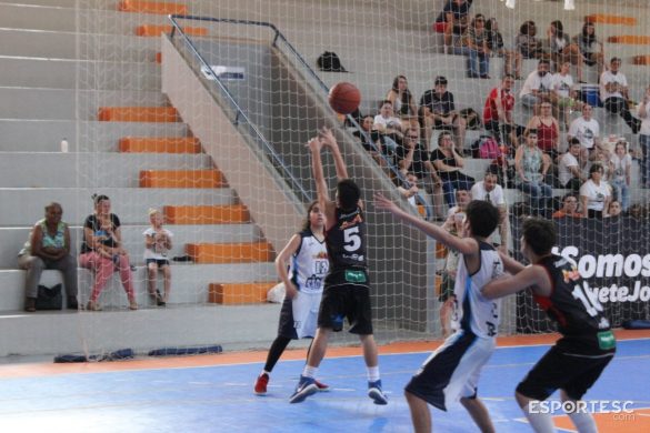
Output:
<path fill-rule="evenodd" d="M 451 130 L 457 151 L 463 152 L 467 121 L 456 111 L 453 93 L 447 90 L 444 77 L 436 77 L 433 89 L 422 93 L 419 113 L 427 147 L 431 142 L 432 129 Z"/>

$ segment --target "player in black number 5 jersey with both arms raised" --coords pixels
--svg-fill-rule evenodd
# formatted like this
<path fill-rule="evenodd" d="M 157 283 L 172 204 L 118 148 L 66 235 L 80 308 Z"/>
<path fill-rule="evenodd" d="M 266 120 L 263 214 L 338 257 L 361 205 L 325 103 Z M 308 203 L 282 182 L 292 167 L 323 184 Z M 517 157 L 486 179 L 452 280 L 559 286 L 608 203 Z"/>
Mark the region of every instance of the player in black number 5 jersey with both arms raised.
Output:
<path fill-rule="evenodd" d="M 330 200 L 324 180 L 320 152 L 330 148 L 337 170 L 337 198 Z M 350 323 L 350 332 L 358 334 L 363 348 L 368 369 L 368 396 L 374 404 L 387 404 L 381 390 L 377 344 L 372 335 L 370 308 L 370 281 L 366 259 L 366 216 L 360 200 L 359 187 L 348 179 L 348 169 L 332 132 L 323 128 L 319 137 L 309 141 L 311 164 L 320 209 L 326 214 L 326 244 L 329 272 L 326 276 L 322 301 L 318 315 L 318 330 L 311 344 L 307 364 L 289 399 L 291 403 L 302 402 L 318 391 L 314 382 L 318 366 L 322 361 L 328 339 L 332 331 L 341 331 L 343 320 Z"/>

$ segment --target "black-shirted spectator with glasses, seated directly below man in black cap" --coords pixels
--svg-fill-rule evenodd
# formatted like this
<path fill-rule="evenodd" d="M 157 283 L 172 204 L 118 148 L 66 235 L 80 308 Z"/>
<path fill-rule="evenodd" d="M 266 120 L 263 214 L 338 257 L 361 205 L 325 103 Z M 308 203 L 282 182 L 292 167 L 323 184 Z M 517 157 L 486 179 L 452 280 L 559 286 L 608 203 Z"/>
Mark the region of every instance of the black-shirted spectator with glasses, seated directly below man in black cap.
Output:
<path fill-rule="evenodd" d="M 442 180 L 442 191 L 447 204 L 452 208 L 456 205 L 454 190 L 471 190 L 474 184 L 474 178 L 462 173 L 460 170 L 464 167 L 464 160 L 453 148 L 451 134 L 443 131 L 438 135 L 438 149 L 431 152 L 429 158 L 433 163 L 438 174 Z"/>

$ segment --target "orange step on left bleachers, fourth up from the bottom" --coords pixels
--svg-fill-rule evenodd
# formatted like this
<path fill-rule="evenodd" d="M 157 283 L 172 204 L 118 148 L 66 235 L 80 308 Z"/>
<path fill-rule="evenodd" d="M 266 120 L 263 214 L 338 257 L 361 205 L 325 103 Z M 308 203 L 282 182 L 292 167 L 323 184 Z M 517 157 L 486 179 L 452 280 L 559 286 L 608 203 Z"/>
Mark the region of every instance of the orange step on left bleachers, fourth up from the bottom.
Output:
<path fill-rule="evenodd" d="M 222 188 L 219 170 L 142 170 L 140 188 Z"/>

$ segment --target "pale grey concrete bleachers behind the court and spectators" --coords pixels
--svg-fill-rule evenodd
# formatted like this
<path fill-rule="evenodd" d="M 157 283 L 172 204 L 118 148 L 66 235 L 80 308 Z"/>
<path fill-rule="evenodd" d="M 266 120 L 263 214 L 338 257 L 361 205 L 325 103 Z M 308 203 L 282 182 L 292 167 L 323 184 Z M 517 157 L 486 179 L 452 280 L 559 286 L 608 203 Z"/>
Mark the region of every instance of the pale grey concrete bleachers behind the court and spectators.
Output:
<path fill-rule="evenodd" d="M 398 73 L 408 77 L 417 100 L 432 88 L 437 75 L 446 75 L 457 108 L 471 107 L 482 113 L 484 98 L 501 75 L 501 59 L 491 59 L 491 80 L 473 80 L 464 77 L 463 57 L 444 53 L 441 36 L 431 30 L 442 0 L 412 0 L 399 4 L 286 0 L 273 1 L 272 7 L 264 8 L 254 0 L 227 0 L 218 6 L 210 0 L 182 3 L 191 14 L 270 21 L 282 30 L 314 69 L 316 59 L 322 51 L 337 52 L 350 72 L 322 72 L 319 75 L 328 85 L 342 80 L 357 84 L 363 95 L 361 110 L 364 113 L 374 113 L 377 102 L 383 99 Z M 520 4 L 520 9 L 511 11 L 498 0 L 482 0 L 474 3 L 472 13 L 497 17 L 507 43 L 511 43 L 519 24 L 532 17 L 546 31 L 548 23 L 561 13 L 570 34 L 579 31 L 587 14 L 636 17 L 636 26 L 598 22 L 597 34 L 606 41 L 607 59 L 614 53 L 623 58 L 622 71 L 631 83 L 631 97 L 639 100 L 649 74 L 648 67 L 634 58 L 650 53 L 647 43 L 639 38 L 620 39 L 623 43 L 609 42 L 610 38 L 620 36 L 643 36 L 650 20 L 647 13 L 639 13 L 644 11 L 644 6 L 634 4 L 638 2 L 622 6 L 604 0 L 579 2 L 577 11 L 564 13 L 561 4 L 553 1 L 536 2 L 530 9 Z M 79 22 L 87 27 L 78 28 Z M 78 320 L 82 323 L 92 321 L 93 328 L 98 329 L 113 322 L 123 322 L 120 324 L 123 329 L 136 329 L 142 325 L 142 318 L 150 320 L 154 316 L 154 323 L 164 326 L 170 339 L 166 342 L 168 344 L 188 342 L 183 328 L 173 328 L 192 316 L 197 321 L 198 335 L 190 339 L 190 343 L 218 335 L 221 343 L 259 346 L 274 336 L 274 329 L 269 323 L 277 320 L 277 305 L 262 304 L 260 300 L 253 305 L 238 306 L 209 302 L 210 283 L 277 281 L 270 260 L 254 264 L 173 263 L 170 308 L 166 311 L 148 308 L 141 235 L 148 226 L 147 210 L 164 204 L 213 207 L 242 203 L 238 191 L 230 187 L 164 191 L 141 188 L 141 171 L 144 169 L 206 170 L 214 167 L 206 153 L 119 152 L 119 140 L 123 137 L 191 137 L 192 131 L 183 119 L 164 123 L 100 121 L 101 108 L 171 105 L 161 92 L 161 67 L 157 62 L 160 39 L 138 36 L 138 32 L 144 34 L 150 30 L 158 36 L 160 29 L 141 26 L 169 26 L 169 20 L 162 13 L 120 11 L 117 0 L 0 0 L 0 290 L 3 293 L 0 316 L 16 321 L 6 330 L 20 329 L 13 334 L 2 331 L 0 356 L 52 353 L 59 348 L 82 349 L 83 339 L 76 333 L 77 323 L 70 323 L 76 312 L 31 316 L 21 312 L 24 271 L 17 269 L 16 255 L 28 238 L 29 228 L 42 218 L 43 207 L 50 201 L 63 205 L 63 219 L 73 226 L 73 241 L 78 246 L 80 225 L 92 211 L 90 195 L 94 192 L 106 193 L 112 199 L 113 211 L 124 224 L 124 242 L 136 265 L 138 301 L 142 311 L 122 311 L 127 305 L 126 296 L 113 278 L 101 301 L 112 310 L 99 314 L 79 313 L 83 318 Z M 219 36 L 210 33 L 212 38 Z M 524 61 L 522 73 L 526 75 L 534 67 L 534 61 Z M 594 68 L 586 73 L 586 78 L 596 82 Z M 518 81 L 517 91 L 521 83 Z M 517 108 L 518 123 L 526 124 L 528 115 L 521 107 Z M 594 110 L 594 117 L 601 123 L 602 134 L 622 134 L 636 145 L 636 138 L 620 118 L 599 108 Z M 468 131 L 466 145 L 469 147 L 480 133 Z M 59 152 L 62 138 L 70 143 L 69 153 Z M 87 142 L 88 138 L 92 138 L 92 147 Z M 564 142 L 563 135 L 561 142 Z M 464 172 L 479 180 L 488 162 L 468 159 Z M 638 183 L 637 168 L 632 183 Z M 563 190 L 554 191 L 557 195 L 562 193 Z M 514 190 L 508 190 L 507 197 L 510 203 L 522 200 Z M 632 202 L 636 201 L 647 203 L 647 191 L 634 189 Z M 254 221 L 178 224 L 169 229 L 182 240 L 171 252 L 174 256 L 187 254 L 186 243 L 253 243 L 266 239 L 263 228 L 256 225 Z M 81 303 L 88 299 L 91 279 L 89 271 L 80 270 Z M 59 281 L 57 272 L 46 272 L 43 283 Z M 89 319 L 90 315 L 93 319 Z M 250 318 L 250 330 L 241 330 L 243 316 Z M 68 336 L 56 336 L 56 326 L 66 330 Z M 210 328 L 217 326 L 221 326 L 219 333 L 210 332 Z M 238 333 L 230 338 L 233 330 Z M 30 335 L 40 335 L 43 342 L 26 348 L 22 341 Z M 130 344 L 132 335 L 126 332 L 118 336 L 102 334 L 102 338 L 104 342 L 100 346 L 119 346 Z M 159 336 L 139 338 L 142 348 L 161 342 Z"/>

